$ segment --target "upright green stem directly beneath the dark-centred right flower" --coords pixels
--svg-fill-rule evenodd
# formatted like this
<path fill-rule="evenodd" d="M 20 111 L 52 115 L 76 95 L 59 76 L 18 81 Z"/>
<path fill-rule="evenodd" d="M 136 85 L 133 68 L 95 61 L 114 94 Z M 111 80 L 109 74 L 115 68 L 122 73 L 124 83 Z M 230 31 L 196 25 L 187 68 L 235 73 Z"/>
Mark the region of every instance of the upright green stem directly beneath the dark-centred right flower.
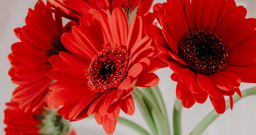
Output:
<path fill-rule="evenodd" d="M 173 111 L 174 135 L 181 135 L 181 112 L 182 112 L 181 101 L 176 98 L 174 102 L 174 111 Z"/>

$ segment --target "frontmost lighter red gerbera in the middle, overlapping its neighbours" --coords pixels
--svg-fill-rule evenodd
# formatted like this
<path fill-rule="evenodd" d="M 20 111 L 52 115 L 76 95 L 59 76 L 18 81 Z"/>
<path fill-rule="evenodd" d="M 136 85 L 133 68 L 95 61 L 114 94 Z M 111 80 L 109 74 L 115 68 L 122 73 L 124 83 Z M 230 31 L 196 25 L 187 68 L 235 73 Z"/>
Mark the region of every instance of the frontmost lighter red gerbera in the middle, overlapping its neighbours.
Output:
<path fill-rule="evenodd" d="M 161 66 L 154 57 L 158 52 L 143 32 L 154 17 L 135 15 L 128 28 L 122 8 L 114 8 L 112 14 L 94 9 L 90 13 L 61 38 L 72 54 L 60 52 L 49 59 L 57 70 L 48 76 L 58 80 L 49 87 L 54 89 L 49 99 L 63 105 L 58 114 L 65 119 L 76 121 L 94 113 L 97 123 L 112 134 L 120 109 L 134 113 L 133 86 L 158 84 L 153 73 Z"/>

